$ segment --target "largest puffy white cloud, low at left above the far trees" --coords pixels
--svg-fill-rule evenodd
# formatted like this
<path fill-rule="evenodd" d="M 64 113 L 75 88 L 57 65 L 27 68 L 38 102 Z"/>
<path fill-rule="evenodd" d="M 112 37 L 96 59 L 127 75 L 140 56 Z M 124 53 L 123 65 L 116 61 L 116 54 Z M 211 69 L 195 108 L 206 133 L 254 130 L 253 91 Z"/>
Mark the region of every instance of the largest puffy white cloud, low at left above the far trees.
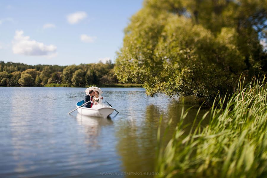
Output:
<path fill-rule="evenodd" d="M 30 40 L 29 36 L 23 36 L 23 31 L 16 31 L 12 42 L 13 53 L 23 55 L 53 55 L 57 47 L 54 45 L 44 45 L 44 43 Z"/>

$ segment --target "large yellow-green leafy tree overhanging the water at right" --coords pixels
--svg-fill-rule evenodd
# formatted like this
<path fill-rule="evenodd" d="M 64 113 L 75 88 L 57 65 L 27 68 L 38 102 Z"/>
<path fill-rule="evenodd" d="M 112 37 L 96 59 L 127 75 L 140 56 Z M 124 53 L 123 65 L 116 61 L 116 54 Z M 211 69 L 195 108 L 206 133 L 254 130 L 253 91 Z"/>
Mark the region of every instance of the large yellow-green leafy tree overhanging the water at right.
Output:
<path fill-rule="evenodd" d="M 264 73 L 264 0 L 146 0 L 125 28 L 115 73 L 147 94 L 212 101 L 240 74 Z"/>

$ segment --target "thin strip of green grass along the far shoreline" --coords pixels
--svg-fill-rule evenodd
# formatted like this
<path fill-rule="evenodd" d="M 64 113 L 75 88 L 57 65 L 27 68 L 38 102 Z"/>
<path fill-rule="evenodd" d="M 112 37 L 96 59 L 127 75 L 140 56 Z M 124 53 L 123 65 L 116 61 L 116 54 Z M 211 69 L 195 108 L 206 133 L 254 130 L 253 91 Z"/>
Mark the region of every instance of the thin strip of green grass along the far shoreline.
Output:
<path fill-rule="evenodd" d="M 95 85 L 90 85 L 90 86 L 84 86 L 84 87 L 91 87 Z M 58 83 L 50 83 L 45 85 L 45 87 L 74 87 L 71 84 L 58 84 Z M 83 88 L 84 88 L 83 87 Z M 115 84 L 110 84 L 110 85 L 97 85 L 97 87 L 143 87 L 143 84 L 120 84 L 120 83 L 115 83 Z"/>

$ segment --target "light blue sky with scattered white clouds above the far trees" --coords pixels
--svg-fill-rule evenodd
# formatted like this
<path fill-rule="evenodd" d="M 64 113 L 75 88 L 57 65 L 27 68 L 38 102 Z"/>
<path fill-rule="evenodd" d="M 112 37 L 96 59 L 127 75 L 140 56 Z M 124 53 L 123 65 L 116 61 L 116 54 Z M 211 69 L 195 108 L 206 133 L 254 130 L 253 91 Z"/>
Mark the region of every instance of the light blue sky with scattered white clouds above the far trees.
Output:
<path fill-rule="evenodd" d="M 116 58 L 143 0 L 0 1 L 0 61 L 30 65 Z"/>

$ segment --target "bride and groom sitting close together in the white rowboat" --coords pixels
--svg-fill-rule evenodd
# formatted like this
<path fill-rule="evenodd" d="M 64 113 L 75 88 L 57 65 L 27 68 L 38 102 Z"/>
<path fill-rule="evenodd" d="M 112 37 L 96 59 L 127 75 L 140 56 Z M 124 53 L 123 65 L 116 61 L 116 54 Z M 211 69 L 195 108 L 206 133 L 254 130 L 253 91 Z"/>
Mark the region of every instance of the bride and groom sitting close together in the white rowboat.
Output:
<path fill-rule="evenodd" d="M 99 95 L 99 92 L 90 90 L 89 95 L 85 96 L 85 103 L 90 101 L 89 103 L 85 104 L 84 107 L 93 108 L 93 109 L 100 109 L 103 107 L 108 107 L 106 104 L 102 103 L 103 97 Z"/>

